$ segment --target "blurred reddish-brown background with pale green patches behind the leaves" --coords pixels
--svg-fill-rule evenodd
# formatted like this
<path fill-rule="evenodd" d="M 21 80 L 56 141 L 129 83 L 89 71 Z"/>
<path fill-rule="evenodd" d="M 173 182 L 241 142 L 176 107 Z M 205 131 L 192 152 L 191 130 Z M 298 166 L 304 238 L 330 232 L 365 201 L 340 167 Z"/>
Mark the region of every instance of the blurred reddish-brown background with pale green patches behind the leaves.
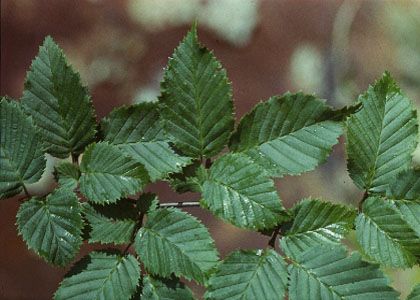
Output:
<path fill-rule="evenodd" d="M 237 118 L 286 91 L 349 105 L 385 70 L 420 109 L 418 0 L 2 0 L 0 94 L 21 97 L 26 70 L 51 35 L 89 87 L 98 120 L 115 106 L 153 101 L 168 57 L 194 20 L 200 40 L 227 69 Z M 414 161 L 420 164 L 419 149 Z M 46 177 L 31 192 L 42 194 L 51 184 Z M 344 139 L 326 164 L 277 187 L 286 207 L 309 195 L 350 205 L 362 197 L 346 175 Z M 148 190 L 168 202 L 198 197 L 176 195 L 165 184 Z M 0 299 L 50 299 L 67 269 L 27 250 L 17 236 L 18 206 L 0 202 Z M 222 257 L 267 245 L 268 237 L 188 210 L 209 227 Z M 356 247 L 352 236 L 348 244 Z M 91 247 L 84 245 L 79 257 Z M 420 282 L 419 268 L 385 271 L 402 299 Z"/>

